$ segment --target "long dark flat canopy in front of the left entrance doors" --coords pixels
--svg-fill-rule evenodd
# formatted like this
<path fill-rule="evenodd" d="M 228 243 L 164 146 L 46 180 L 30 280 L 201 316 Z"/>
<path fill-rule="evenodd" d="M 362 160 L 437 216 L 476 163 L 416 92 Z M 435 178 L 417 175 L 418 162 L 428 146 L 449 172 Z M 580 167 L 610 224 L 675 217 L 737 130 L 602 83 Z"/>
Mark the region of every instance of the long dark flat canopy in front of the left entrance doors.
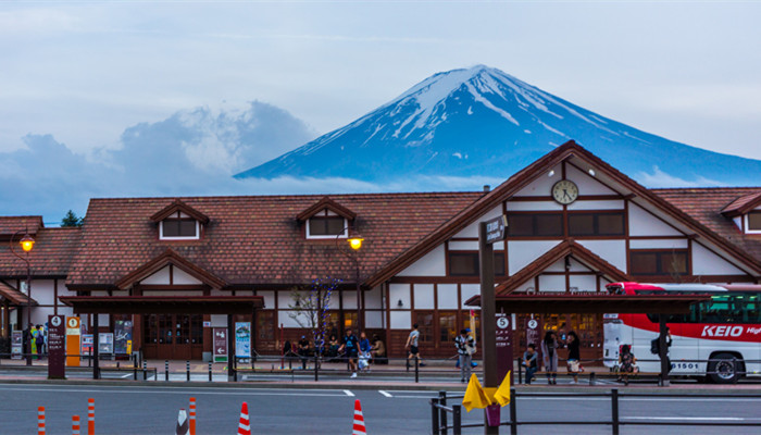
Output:
<path fill-rule="evenodd" d="M 64 296 L 77 314 L 251 314 L 263 296 Z"/>

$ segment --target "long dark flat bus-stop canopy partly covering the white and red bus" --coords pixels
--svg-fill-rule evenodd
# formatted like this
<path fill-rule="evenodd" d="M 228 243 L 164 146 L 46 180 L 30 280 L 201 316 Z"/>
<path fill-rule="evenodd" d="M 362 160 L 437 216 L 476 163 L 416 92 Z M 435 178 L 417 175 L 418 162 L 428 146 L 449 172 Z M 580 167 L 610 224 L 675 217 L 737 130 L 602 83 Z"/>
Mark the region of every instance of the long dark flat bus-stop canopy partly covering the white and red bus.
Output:
<path fill-rule="evenodd" d="M 652 313 L 686 314 L 694 303 L 710 295 L 608 295 L 589 294 L 509 294 L 496 297 L 497 311 L 506 313 Z M 481 306 L 481 296 L 465 304 Z"/>

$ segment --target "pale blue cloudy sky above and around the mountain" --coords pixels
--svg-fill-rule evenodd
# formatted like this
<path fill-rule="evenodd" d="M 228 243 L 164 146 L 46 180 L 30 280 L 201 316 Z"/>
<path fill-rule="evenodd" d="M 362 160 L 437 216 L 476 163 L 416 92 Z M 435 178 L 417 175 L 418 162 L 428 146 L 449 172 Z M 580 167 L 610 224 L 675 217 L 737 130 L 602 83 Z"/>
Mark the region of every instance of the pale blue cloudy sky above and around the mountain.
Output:
<path fill-rule="evenodd" d="M 195 172 L 180 171 L 189 184 L 176 191 L 192 195 L 192 179 L 226 181 L 436 72 L 474 64 L 672 140 L 761 159 L 759 16 L 761 3 L 748 1 L 2 2 L 0 213 L 54 221 L 68 208 L 84 214 L 92 196 L 173 195 L 159 175 L 176 169 L 140 160 L 134 133 L 161 136 L 159 127 L 200 110 L 179 147 Z M 223 120 L 254 113 L 260 127 L 288 119 L 292 134 L 246 136 Z M 261 138 L 255 152 L 241 146 L 246 137 Z M 38 158 L 46 147 L 76 163 Z M 86 183 L 64 190 L 55 179 L 66 174 Z M 325 190 L 340 190 L 332 183 Z M 72 189 L 78 196 L 62 207 Z M 20 191 L 33 203 L 21 204 Z"/>

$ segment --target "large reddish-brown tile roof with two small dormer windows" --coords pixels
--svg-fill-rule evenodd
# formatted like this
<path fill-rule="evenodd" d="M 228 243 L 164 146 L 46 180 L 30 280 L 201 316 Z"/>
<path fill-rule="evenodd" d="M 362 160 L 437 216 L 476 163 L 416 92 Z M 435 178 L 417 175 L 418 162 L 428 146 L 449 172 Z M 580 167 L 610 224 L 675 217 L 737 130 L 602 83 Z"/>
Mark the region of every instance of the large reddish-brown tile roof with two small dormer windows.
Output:
<path fill-rule="evenodd" d="M 482 192 L 333 195 L 357 213 L 366 277 L 479 198 Z M 354 262 L 334 239 L 307 240 L 297 215 L 323 196 L 200 197 L 182 201 L 209 216 L 200 240 L 165 241 L 150 217 L 174 198 L 92 199 L 68 285 L 113 286 L 167 248 L 228 285 L 353 282 Z"/>

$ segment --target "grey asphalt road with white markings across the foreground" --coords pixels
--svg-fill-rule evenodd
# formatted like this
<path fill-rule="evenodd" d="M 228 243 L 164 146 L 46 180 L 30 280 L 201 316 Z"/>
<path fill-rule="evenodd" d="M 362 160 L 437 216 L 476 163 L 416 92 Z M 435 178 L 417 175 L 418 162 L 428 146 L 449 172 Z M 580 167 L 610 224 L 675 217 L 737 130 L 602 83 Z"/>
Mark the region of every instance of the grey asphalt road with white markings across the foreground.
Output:
<path fill-rule="evenodd" d="M 59 386 L 0 384 L 0 434 L 32 434 L 37 407 L 46 407 L 48 434 L 71 434 L 71 418 L 78 414 L 83 430 L 87 398 L 96 400 L 98 434 L 174 434 L 179 408 L 189 397 L 198 402 L 199 434 L 234 434 L 240 405 L 247 401 L 253 434 L 350 433 L 354 399 L 360 399 L 367 433 L 425 434 L 431 432 L 428 398 L 433 391 L 362 389 L 260 389 L 139 386 Z M 516 399 L 519 419 L 525 421 L 610 419 L 607 398 L 523 397 Z M 507 408 L 503 409 L 507 412 Z M 503 415 L 502 420 L 506 420 Z M 706 423 L 753 422 L 761 424 L 761 398 L 623 398 L 623 421 L 689 422 L 699 426 L 624 426 L 637 434 L 759 434 L 761 427 L 709 427 Z M 463 423 L 483 421 L 483 411 L 464 413 Z M 610 434 L 610 426 L 521 426 L 520 434 L 573 431 Z M 83 431 L 83 433 L 86 433 Z M 483 428 L 463 433 L 481 434 Z M 509 433 L 507 427 L 501 433 Z"/>

